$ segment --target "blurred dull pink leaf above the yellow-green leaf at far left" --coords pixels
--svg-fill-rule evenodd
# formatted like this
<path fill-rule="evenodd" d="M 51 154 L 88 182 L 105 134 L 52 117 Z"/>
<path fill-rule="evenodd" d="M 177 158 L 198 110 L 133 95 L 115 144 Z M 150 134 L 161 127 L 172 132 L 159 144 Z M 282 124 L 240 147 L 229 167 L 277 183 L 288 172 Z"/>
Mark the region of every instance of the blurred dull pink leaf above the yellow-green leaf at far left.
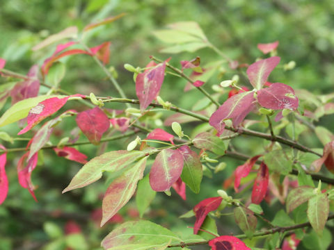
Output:
<path fill-rule="evenodd" d="M 38 65 L 33 65 L 33 67 L 29 70 L 29 73 L 26 75 L 28 78 L 17 83 L 10 91 L 12 105 L 27 98 L 37 97 L 38 91 L 40 90 L 40 81 L 38 81 L 37 74 Z"/>

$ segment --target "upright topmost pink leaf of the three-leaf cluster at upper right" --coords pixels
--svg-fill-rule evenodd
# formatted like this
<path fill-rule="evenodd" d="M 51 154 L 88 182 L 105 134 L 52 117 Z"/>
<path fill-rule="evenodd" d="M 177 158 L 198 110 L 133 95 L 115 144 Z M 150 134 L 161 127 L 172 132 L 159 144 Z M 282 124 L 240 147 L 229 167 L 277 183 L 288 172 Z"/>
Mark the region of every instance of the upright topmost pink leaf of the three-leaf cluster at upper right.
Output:
<path fill-rule="evenodd" d="M 247 69 L 247 75 L 250 83 L 257 90 L 262 88 L 262 85 L 267 82 L 269 74 L 280 63 L 280 57 L 273 56 L 264 60 L 259 60 L 250 65 Z"/>

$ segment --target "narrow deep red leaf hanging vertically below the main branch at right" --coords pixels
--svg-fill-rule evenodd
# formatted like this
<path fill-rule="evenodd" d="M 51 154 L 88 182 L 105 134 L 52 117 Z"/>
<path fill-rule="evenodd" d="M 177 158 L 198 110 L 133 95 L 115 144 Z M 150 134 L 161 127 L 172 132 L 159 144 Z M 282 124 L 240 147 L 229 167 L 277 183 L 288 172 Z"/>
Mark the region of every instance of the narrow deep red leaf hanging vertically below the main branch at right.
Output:
<path fill-rule="evenodd" d="M 260 204 L 262 199 L 266 196 L 269 183 L 269 169 L 263 162 L 257 172 L 257 176 L 253 185 L 252 202 Z"/>

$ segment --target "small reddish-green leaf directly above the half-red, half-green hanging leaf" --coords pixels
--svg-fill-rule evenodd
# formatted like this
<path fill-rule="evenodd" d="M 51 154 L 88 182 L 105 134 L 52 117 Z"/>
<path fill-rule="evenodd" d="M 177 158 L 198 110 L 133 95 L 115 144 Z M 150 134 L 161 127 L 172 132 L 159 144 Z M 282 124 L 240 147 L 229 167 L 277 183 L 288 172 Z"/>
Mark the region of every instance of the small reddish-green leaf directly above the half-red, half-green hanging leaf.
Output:
<path fill-rule="evenodd" d="M 199 133 L 193 138 L 193 145 L 198 149 L 206 149 L 216 153 L 218 156 L 225 154 L 225 144 L 216 135 L 208 132 Z"/>

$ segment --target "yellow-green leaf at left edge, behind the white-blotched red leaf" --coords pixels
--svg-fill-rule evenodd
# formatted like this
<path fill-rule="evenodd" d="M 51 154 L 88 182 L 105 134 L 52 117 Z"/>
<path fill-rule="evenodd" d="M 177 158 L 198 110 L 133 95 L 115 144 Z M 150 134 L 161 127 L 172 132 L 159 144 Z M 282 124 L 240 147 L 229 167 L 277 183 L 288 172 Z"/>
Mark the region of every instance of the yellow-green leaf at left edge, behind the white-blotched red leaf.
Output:
<path fill-rule="evenodd" d="M 24 99 L 22 101 L 15 103 L 8 110 L 6 110 L 6 112 L 0 117 L 0 127 L 6 126 L 13 122 L 17 122 L 20 119 L 27 117 L 29 114 L 29 110 L 31 110 L 31 108 L 37 106 L 37 104 L 40 103 L 41 101 L 44 101 L 45 99 L 49 99 L 52 97 L 62 98 L 63 96 L 45 94 L 39 97 Z"/>

